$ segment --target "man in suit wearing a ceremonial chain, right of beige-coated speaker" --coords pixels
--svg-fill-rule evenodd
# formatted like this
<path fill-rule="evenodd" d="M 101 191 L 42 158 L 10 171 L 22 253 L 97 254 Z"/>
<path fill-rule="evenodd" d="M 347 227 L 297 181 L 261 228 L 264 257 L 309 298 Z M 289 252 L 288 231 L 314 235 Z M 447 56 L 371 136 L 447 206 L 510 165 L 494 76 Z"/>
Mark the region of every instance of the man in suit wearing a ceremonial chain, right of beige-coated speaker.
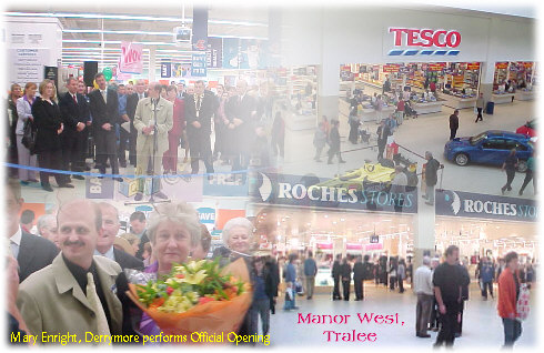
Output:
<path fill-rule="evenodd" d="M 187 138 L 191 150 L 191 173 L 199 173 L 202 160 L 206 173 L 213 173 L 210 142 L 212 115 L 218 110 L 218 100 L 211 91 L 204 91 L 204 82 L 194 83 L 194 94 L 185 98 Z"/>

